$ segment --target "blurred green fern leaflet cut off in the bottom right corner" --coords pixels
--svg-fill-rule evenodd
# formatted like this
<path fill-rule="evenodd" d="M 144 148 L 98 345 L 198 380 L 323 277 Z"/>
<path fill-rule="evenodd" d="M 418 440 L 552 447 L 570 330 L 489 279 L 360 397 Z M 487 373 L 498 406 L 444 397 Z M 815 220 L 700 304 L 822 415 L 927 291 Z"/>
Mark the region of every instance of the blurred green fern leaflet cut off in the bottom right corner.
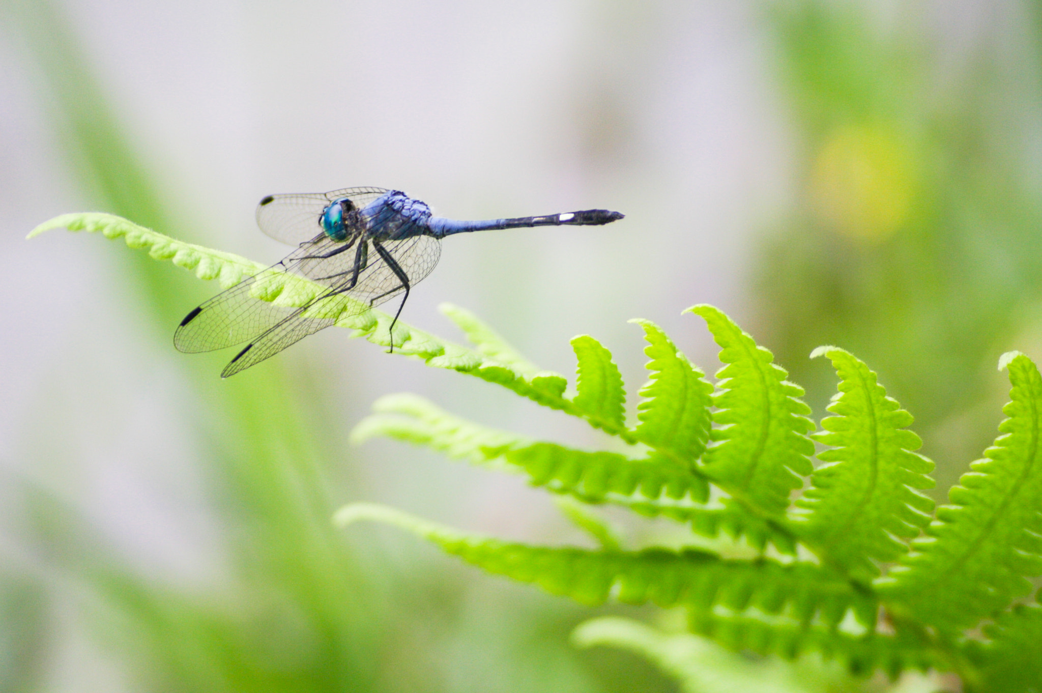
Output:
<path fill-rule="evenodd" d="M 990 642 L 979 648 L 981 679 L 967 683 L 969 693 L 1042 691 L 1042 607 L 1017 604 L 986 625 L 984 634 Z"/>

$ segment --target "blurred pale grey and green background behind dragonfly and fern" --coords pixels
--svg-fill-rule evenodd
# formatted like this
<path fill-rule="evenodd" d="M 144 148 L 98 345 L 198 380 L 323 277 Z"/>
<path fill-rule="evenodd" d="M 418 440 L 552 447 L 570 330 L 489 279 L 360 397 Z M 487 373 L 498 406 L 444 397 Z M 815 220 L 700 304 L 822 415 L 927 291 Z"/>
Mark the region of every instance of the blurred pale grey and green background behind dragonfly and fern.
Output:
<path fill-rule="evenodd" d="M 710 302 L 816 418 L 835 376 L 808 355 L 845 347 L 916 417 L 943 500 L 1001 419 L 999 354 L 1042 357 L 1039 5 L 0 0 L 0 690 L 675 690 L 573 649 L 591 610 L 328 521 L 368 500 L 585 541 L 520 478 L 349 445 L 380 395 L 572 445 L 595 431 L 343 329 L 222 381 L 232 353 L 171 343 L 215 283 L 122 242 L 25 234 L 104 211 L 274 263 L 288 248 L 253 221 L 269 193 L 619 209 L 448 240 L 403 319 L 457 339 L 437 311 L 456 303 L 566 374 L 591 333 L 636 393 L 626 320 L 712 372 L 680 316 Z"/>

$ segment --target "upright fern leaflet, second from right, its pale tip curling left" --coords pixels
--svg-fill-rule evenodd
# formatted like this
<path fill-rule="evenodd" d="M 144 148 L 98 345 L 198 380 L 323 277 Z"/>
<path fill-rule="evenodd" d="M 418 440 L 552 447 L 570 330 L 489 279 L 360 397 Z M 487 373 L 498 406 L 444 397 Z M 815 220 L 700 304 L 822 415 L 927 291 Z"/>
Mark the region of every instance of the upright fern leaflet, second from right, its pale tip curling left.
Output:
<path fill-rule="evenodd" d="M 934 482 L 934 463 L 916 450 L 922 441 L 907 429 L 912 415 L 900 409 L 864 363 L 837 347 L 819 347 L 840 377 L 839 393 L 814 438 L 832 449 L 814 471 L 812 488 L 797 504 L 810 511 L 801 539 L 830 565 L 863 577 L 878 574 L 869 558 L 896 561 L 931 519 L 934 501 L 916 489 Z"/>

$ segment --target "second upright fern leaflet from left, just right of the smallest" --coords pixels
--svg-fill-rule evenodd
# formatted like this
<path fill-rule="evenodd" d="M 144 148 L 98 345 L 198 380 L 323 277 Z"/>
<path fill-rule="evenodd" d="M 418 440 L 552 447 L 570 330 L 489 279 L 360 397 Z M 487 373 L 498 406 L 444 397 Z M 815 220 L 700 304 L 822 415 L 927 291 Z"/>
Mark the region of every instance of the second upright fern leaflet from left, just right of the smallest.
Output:
<path fill-rule="evenodd" d="M 694 464 L 710 437 L 713 385 L 649 320 L 630 320 L 644 328 L 651 379 L 641 390 L 640 424 L 634 437 L 664 454 Z"/>

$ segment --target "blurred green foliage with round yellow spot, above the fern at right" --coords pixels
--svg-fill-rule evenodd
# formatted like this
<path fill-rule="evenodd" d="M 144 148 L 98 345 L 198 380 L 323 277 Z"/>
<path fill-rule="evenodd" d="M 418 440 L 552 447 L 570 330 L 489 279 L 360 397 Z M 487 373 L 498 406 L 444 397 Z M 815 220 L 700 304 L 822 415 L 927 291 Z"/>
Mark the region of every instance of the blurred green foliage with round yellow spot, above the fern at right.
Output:
<path fill-rule="evenodd" d="M 814 404 L 830 389 L 804 358 L 815 346 L 872 363 L 942 487 L 988 439 L 985 366 L 1034 328 L 1042 294 L 1039 7 L 984 7 L 958 35 L 928 3 L 768 14 L 803 158 L 796 212 L 754 270 L 764 340 Z"/>

